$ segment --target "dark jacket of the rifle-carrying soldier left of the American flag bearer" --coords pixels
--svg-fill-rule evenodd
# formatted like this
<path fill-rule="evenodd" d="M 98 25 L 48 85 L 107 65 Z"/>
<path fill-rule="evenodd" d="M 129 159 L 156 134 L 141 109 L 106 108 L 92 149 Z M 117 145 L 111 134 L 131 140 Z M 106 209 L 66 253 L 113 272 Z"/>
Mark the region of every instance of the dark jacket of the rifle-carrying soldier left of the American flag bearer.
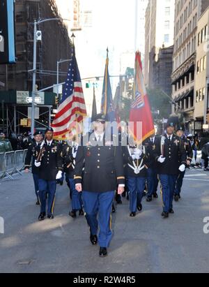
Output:
<path fill-rule="evenodd" d="M 37 147 L 38 154 L 40 152 L 40 146 Z M 63 170 L 63 160 L 61 158 L 61 146 L 56 140 L 52 141 L 49 146 L 45 141 L 42 147 L 41 165 L 39 168 L 40 179 L 47 181 L 56 180 L 56 175 L 59 170 Z"/>

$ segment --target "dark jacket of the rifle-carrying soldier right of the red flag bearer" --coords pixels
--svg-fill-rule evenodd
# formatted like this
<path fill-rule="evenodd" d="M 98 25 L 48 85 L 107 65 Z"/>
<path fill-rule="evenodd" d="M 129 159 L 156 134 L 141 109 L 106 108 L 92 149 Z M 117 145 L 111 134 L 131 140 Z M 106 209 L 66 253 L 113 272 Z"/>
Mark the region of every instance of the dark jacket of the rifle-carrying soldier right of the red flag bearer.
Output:
<path fill-rule="evenodd" d="M 157 163 L 157 170 L 159 175 L 178 175 L 178 168 L 181 164 L 186 165 L 187 154 L 183 140 L 177 135 L 173 134 L 171 142 L 167 135 L 165 137 L 163 146 L 163 157 L 165 157 L 164 163 Z M 161 151 L 156 151 L 155 161 L 159 159 Z M 180 159 L 180 161 L 179 161 Z"/>

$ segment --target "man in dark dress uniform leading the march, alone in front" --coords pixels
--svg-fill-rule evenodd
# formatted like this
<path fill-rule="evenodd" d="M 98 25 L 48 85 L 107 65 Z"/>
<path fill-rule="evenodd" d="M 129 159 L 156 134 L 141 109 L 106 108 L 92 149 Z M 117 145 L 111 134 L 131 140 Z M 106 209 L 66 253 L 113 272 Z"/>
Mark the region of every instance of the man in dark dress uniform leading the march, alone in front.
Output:
<path fill-rule="evenodd" d="M 117 185 L 118 194 L 123 193 L 125 186 L 122 149 L 106 140 L 106 120 L 102 114 L 93 118 L 94 131 L 88 139 L 83 138 L 75 164 L 76 189 L 82 192 L 90 240 L 93 245 L 99 243 L 100 257 L 107 256 L 107 247 L 111 242 L 114 193 Z"/>

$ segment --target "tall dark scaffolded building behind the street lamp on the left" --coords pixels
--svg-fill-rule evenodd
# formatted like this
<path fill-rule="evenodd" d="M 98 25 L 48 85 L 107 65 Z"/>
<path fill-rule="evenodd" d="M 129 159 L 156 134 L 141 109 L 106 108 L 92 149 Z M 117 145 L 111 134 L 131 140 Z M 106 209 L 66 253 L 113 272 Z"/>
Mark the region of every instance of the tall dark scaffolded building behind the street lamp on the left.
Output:
<path fill-rule="evenodd" d="M 33 69 L 33 21 L 48 18 L 61 18 L 55 0 L 16 0 L 15 1 L 15 45 L 16 64 L 0 66 L 0 101 L 3 101 L 1 114 L 3 126 L 7 132 L 25 130 L 20 126 L 22 118 L 28 114 L 29 103 L 26 96 L 32 90 Z M 62 20 L 45 22 L 39 25 L 42 37 L 37 43 L 37 89 L 43 89 L 56 84 L 56 65 L 60 59 L 70 59 L 71 41 L 68 29 Z M 68 71 L 68 63 L 60 66 L 59 81 L 64 82 Z M 22 98 L 21 98 L 21 96 Z M 40 119 L 36 126 L 48 126 L 51 108 L 55 106 L 55 95 L 52 89 L 45 92 L 39 106 Z M 48 114 L 47 114 L 48 113 Z M 41 116 L 45 114 L 45 116 Z M 1 125 L 1 123 L 0 123 Z M 1 128 L 1 126 L 0 126 Z M 27 126 L 29 130 L 29 126 Z"/>

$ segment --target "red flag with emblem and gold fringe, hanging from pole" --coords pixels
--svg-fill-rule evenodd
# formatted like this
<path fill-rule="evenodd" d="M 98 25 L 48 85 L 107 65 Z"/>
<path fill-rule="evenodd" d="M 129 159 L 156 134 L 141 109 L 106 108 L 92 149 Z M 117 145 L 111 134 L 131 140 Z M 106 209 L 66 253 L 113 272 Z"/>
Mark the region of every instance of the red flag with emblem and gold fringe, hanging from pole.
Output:
<path fill-rule="evenodd" d="M 141 125 L 137 124 L 139 122 L 141 122 Z M 141 145 L 146 138 L 155 133 L 153 116 L 142 74 L 141 54 L 139 52 L 136 52 L 135 59 L 134 101 L 130 110 L 129 131 L 137 145 Z"/>

